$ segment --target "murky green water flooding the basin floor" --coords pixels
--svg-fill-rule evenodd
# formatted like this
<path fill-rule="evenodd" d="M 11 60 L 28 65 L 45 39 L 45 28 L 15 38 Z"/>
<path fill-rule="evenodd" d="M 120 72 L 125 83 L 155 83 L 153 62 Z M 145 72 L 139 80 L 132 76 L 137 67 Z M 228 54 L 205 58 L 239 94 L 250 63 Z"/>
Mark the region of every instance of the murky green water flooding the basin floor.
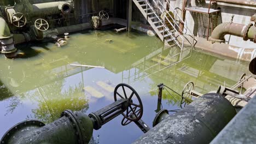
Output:
<path fill-rule="evenodd" d="M 164 47 L 158 38 L 138 32 L 84 31 L 71 34 L 63 47 L 49 42 L 19 48 L 25 53 L 23 58 L 0 57 L 0 137 L 26 119 L 50 123 L 66 109 L 88 114 L 97 111 L 114 102 L 114 87 L 122 82 L 136 89 L 144 106 L 142 119 L 152 127 L 159 83 L 181 93 L 193 81 L 196 91 L 206 93 L 224 83 L 231 87 L 247 71 L 246 64 L 196 50 L 175 56 L 175 47 Z M 175 64 L 178 59 L 183 61 Z M 180 109 L 178 95 L 163 93 L 161 108 Z M 121 126 L 122 118 L 94 131 L 92 143 L 131 143 L 143 134 L 134 123 Z"/>

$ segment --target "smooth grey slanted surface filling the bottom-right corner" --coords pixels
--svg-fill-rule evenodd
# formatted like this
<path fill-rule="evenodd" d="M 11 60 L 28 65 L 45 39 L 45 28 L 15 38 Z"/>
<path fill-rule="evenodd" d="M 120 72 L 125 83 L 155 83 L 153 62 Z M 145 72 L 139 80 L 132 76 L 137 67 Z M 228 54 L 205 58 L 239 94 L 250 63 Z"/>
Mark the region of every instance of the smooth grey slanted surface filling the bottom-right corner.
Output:
<path fill-rule="evenodd" d="M 220 131 L 211 144 L 256 142 L 256 97 Z"/>

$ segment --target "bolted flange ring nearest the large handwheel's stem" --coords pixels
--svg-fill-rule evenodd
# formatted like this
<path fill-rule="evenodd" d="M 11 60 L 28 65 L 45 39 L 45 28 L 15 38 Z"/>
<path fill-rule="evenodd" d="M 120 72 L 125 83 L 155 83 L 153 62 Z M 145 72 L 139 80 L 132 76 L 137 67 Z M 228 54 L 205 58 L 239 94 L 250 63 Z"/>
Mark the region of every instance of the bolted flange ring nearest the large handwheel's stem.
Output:
<path fill-rule="evenodd" d="M 77 119 L 75 118 L 74 112 L 72 110 L 65 110 L 61 113 L 61 117 L 63 117 L 63 116 L 68 117 L 69 121 L 71 121 L 73 123 L 73 127 L 76 130 L 75 135 L 78 136 L 78 143 L 84 143 L 82 130 L 79 127 L 79 123 L 77 122 Z"/>

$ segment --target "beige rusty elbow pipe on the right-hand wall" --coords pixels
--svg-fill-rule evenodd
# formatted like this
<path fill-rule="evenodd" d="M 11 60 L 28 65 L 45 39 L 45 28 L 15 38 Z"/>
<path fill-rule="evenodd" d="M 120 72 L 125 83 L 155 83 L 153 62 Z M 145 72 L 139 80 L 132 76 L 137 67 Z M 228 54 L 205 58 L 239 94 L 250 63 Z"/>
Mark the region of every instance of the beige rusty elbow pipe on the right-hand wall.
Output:
<path fill-rule="evenodd" d="M 252 40 L 256 35 L 256 27 L 252 24 L 246 26 L 240 23 L 225 22 L 214 28 L 210 40 L 213 42 L 224 43 L 226 34 L 242 37 L 243 40 Z"/>

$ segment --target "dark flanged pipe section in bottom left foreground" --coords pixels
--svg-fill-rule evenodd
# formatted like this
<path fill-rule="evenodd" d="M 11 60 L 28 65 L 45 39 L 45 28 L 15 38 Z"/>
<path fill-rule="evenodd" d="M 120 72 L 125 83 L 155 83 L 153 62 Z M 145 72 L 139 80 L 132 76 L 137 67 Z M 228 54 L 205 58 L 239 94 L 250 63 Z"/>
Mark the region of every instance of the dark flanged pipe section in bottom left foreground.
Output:
<path fill-rule="evenodd" d="M 61 118 L 45 125 L 36 120 L 14 125 L 0 143 L 89 143 L 93 132 L 91 119 L 82 112 L 66 110 Z"/>

